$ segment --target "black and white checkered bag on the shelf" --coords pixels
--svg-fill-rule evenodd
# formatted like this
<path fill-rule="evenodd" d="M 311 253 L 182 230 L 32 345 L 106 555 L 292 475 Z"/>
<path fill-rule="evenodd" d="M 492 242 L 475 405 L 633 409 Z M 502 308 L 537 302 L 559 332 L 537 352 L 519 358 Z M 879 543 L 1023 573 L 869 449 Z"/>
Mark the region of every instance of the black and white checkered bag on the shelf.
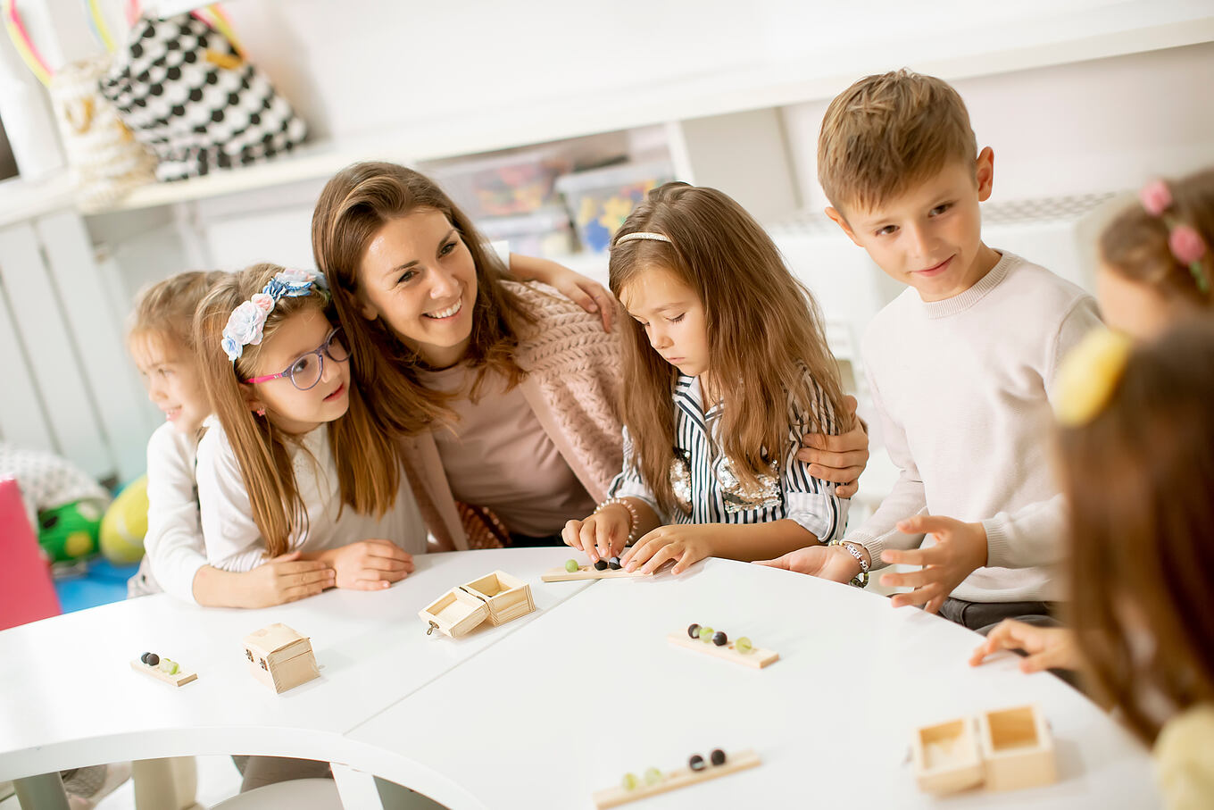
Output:
<path fill-rule="evenodd" d="M 101 92 L 160 159 L 158 180 L 182 180 L 289 152 L 307 126 L 221 32 L 191 15 L 140 17 Z"/>

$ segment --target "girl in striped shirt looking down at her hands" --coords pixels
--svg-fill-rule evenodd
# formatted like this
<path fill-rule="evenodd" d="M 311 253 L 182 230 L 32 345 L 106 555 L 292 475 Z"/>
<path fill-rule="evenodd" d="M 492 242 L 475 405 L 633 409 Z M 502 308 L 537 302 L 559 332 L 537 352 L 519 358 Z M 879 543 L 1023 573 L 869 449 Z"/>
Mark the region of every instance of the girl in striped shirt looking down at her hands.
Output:
<path fill-rule="evenodd" d="M 755 220 L 713 188 L 666 183 L 611 251 L 624 327 L 624 469 L 566 523 L 591 561 L 674 573 L 708 556 L 765 560 L 843 537 L 847 500 L 796 458 L 850 429 L 810 291 Z"/>

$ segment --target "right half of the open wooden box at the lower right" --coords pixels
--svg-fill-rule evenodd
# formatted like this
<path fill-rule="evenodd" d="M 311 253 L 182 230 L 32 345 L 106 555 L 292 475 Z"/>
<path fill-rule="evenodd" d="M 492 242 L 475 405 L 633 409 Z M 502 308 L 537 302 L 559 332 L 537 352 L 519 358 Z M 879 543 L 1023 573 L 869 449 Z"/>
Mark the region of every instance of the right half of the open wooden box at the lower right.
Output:
<path fill-rule="evenodd" d="M 988 791 L 1016 791 L 1057 781 L 1054 736 L 1037 706 L 983 712 L 978 746 Z"/>

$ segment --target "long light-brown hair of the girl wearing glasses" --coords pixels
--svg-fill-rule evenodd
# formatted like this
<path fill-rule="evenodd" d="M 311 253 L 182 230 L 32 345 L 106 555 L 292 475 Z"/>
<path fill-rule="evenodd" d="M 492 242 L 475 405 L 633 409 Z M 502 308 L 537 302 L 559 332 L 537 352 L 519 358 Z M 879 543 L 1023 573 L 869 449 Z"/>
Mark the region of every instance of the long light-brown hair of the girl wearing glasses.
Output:
<path fill-rule="evenodd" d="M 261 344 L 245 346 L 236 363 L 220 349 L 220 341 L 232 311 L 261 291 L 282 270 L 278 265 L 262 264 L 228 276 L 203 300 L 194 319 L 206 393 L 240 464 L 253 519 L 270 556 L 285 553 L 290 539 L 307 527 L 307 511 L 299 494 L 290 454 L 299 437 L 274 427 L 267 418 L 254 417 L 245 398 L 245 384 L 240 380 L 254 374 L 257 357 L 278 328 L 294 315 L 313 311 L 333 321 L 329 296 L 313 285 L 310 295 L 279 299 L 266 317 Z M 382 516 L 396 503 L 401 458 L 397 444 L 375 429 L 353 379 L 350 408 L 329 423 L 328 431 L 342 508 L 348 505 L 363 515 Z"/>

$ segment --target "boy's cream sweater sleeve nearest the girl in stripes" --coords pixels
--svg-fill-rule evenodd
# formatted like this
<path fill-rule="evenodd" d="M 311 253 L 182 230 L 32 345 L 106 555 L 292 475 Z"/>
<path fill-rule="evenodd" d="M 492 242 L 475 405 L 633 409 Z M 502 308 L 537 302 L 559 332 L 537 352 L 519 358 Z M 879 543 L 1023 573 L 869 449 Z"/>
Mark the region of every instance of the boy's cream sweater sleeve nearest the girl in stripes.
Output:
<path fill-rule="evenodd" d="M 873 404 L 881 425 L 881 436 L 885 437 L 885 449 L 900 472 L 897 482 L 890 494 L 881 500 L 881 505 L 860 528 L 847 534 L 846 539 L 868 549 L 868 555 L 872 559 L 870 567 L 881 568 L 886 565 L 881 562 L 881 551 L 885 549 L 915 549 L 923 543 L 924 536 L 921 533 L 903 534 L 897 529 L 897 525 L 900 521 L 925 511 L 927 494 L 919 468 L 915 466 L 914 458 L 910 455 L 906 431 L 890 418 L 885 409 L 877 379 L 868 363 L 864 363 L 864 374 L 868 378 L 868 389 L 873 393 Z"/>

